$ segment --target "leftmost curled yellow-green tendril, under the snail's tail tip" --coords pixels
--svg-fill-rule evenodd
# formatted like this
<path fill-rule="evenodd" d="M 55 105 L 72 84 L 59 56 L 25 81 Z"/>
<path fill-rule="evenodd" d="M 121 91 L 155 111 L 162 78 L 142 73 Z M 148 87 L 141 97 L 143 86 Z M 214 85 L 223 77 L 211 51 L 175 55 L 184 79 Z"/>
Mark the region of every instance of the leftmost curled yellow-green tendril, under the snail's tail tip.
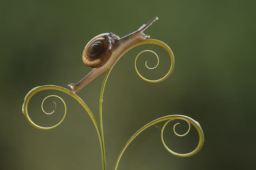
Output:
<path fill-rule="evenodd" d="M 69 96 L 73 97 L 76 101 L 78 101 L 78 103 L 81 104 L 81 106 L 83 106 L 84 110 L 87 111 L 88 115 L 92 119 L 93 125 L 95 126 L 95 129 L 97 131 L 97 134 L 98 134 L 98 137 L 99 137 L 99 141 L 100 141 L 101 153 L 102 153 L 102 164 L 104 164 L 104 157 L 105 156 L 103 155 L 104 152 L 102 151 L 103 148 L 104 148 L 104 143 L 102 142 L 99 126 L 97 125 L 95 117 L 93 116 L 92 111 L 90 111 L 88 106 L 84 103 L 84 101 L 80 97 L 78 97 L 76 94 L 71 92 L 70 90 L 65 89 L 63 87 L 56 86 L 56 85 L 44 85 L 44 86 L 35 87 L 34 89 L 30 90 L 30 92 L 28 92 L 28 94 L 26 95 L 26 97 L 24 99 L 24 103 L 22 105 L 22 112 L 23 112 L 24 116 L 26 117 L 26 119 L 28 120 L 29 124 L 33 125 L 33 127 L 36 127 L 38 129 L 48 130 L 48 129 L 53 129 L 54 127 L 57 127 L 58 125 L 60 125 L 61 122 L 63 122 L 63 120 L 65 118 L 66 111 L 67 111 L 67 107 L 66 107 L 65 102 L 63 101 L 63 99 L 61 99 L 61 97 L 55 96 L 55 95 L 51 95 L 51 96 L 45 97 L 45 99 L 47 99 L 48 97 L 58 97 L 62 101 L 62 103 L 64 104 L 65 113 L 64 113 L 63 118 L 61 119 L 61 121 L 58 124 L 53 125 L 51 127 L 42 127 L 40 125 L 35 124 L 35 122 L 33 122 L 31 120 L 31 118 L 29 117 L 29 114 L 28 114 L 28 103 L 29 103 L 31 97 L 33 97 L 36 93 L 38 93 L 38 92 L 40 92 L 42 90 L 58 90 L 58 91 L 64 92 L 65 94 L 68 94 Z M 45 99 L 42 101 L 42 106 L 44 104 Z"/>

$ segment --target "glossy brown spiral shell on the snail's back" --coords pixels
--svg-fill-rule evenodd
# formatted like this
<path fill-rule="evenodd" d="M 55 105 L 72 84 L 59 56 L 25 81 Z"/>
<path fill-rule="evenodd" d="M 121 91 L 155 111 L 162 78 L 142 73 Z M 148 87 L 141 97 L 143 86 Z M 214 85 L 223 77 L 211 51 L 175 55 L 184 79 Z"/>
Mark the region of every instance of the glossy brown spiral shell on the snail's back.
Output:
<path fill-rule="evenodd" d="M 104 33 L 93 38 L 84 48 L 84 64 L 93 68 L 106 64 L 112 55 L 118 39 L 120 38 L 113 33 Z"/>

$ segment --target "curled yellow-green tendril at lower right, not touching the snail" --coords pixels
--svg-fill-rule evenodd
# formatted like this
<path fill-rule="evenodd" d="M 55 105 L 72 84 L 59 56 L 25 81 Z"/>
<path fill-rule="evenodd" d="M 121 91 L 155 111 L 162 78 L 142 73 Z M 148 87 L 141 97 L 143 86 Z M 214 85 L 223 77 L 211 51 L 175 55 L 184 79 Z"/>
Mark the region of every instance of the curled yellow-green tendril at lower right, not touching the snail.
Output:
<path fill-rule="evenodd" d="M 193 150 L 192 152 L 189 153 L 176 153 L 173 152 L 172 150 L 170 150 L 170 148 L 168 148 L 168 146 L 166 146 L 166 144 L 164 143 L 164 139 L 163 139 L 163 131 L 164 128 L 166 127 L 166 125 L 172 121 L 172 120 L 185 120 L 186 122 L 188 122 L 189 124 L 192 124 L 196 131 L 198 132 L 198 136 L 199 136 L 199 141 L 198 141 L 198 145 L 196 146 L 195 150 Z M 161 118 L 157 118 L 156 120 L 153 120 L 152 122 L 148 123 L 147 125 L 144 125 L 143 127 L 141 127 L 141 129 L 139 131 L 137 131 L 134 135 L 132 135 L 132 137 L 127 141 L 127 143 L 124 145 L 124 148 L 122 148 L 121 152 L 118 155 L 118 158 L 116 160 L 116 164 L 115 164 L 115 170 L 118 167 L 118 163 L 120 162 L 120 159 L 123 155 L 123 153 L 125 152 L 127 146 L 129 146 L 129 144 L 143 131 L 145 131 L 145 129 L 147 129 L 148 127 L 155 125 L 159 122 L 163 122 L 166 121 L 167 122 L 164 124 L 164 126 L 162 127 L 161 130 L 161 141 L 164 145 L 164 148 L 166 148 L 166 150 L 168 150 L 168 152 L 172 153 L 173 155 L 177 156 L 177 157 L 190 157 L 192 155 L 195 155 L 195 153 L 197 153 L 203 146 L 204 144 L 204 132 L 202 130 L 202 127 L 200 126 L 200 124 L 198 122 L 196 122 L 195 120 L 193 120 L 192 118 L 186 117 L 184 115 L 169 115 L 166 117 L 161 117 Z M 189 128 L 190 129 L 190 128 Z M 175 131 L 175 130 L 174 130 Z M 175 134 L 177 134 L 175 132 Z M 186 132 L 186 134 L 188 134 L 188 132 Z"/>

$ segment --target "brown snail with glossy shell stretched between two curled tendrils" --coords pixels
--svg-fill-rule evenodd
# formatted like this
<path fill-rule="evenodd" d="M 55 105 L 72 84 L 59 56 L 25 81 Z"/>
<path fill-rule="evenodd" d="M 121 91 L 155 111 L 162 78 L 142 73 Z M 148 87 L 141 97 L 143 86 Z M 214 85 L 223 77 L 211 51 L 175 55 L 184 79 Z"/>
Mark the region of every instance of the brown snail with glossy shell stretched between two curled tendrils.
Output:
<path fill-rule="evenodd" d="M 158 20 L 158 17 L 153 18 L 148 24 L 143 24 L 140 29 L 122 38 L 110 32 L 99 34 L 91 39 L 85 46 L 82 57 L 84 64 L 93 67 L 93 69 L 78 83 L 68 85 L 71 87 L 72 92 L 76 93 L 99 76 L 99 74 L 113 67 L 118 59 L 124 55 L 125 50 L 127 50 L 129 46 L 142 39 L 150 38 L 150 36 L 145 35 L 143 31 L 156 20 Z"/>

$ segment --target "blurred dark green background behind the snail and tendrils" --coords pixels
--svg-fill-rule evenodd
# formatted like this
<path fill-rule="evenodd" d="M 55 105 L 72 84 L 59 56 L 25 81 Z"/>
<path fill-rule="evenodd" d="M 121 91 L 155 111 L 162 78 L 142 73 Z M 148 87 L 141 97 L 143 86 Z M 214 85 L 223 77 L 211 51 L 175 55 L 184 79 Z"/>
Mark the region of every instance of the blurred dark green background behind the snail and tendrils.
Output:
<path fill-rule="evenodd" d="M 167 53 L 140 46 L 126 53 L 109 76 L 103 114 L 107 168 L 113 169 L 124 143 L 155 118 L 183 114 L 200 122 L 205 144 L 189 158 L 170 155 L 160 131 L 150 127 L 127 148 L 118 169 L 253 169 L 255 160 L 255 1 L 1 1 L 0 169 L 101 169 L 97 133 L 88 114 L 65 94 L 67 117 L 51 131 L 31 127 L 22 115 L 24 96 L 39 85 L 76 83 L 90 71 L 81 53 L 103 32 L 122 37 L 153 17 L 146 34 L 168 44 L 175 55 L 173 74 L 161 83 L 137 76 L 134 59 L 156 48 L 156 59 L 143 53 L 138 68 L 159 78 L 170 66 Z M 104 74 L 77 92 L 99 118 Z M 61 104 L 50 118 L 40 110 L 42 92 L 29 105 L 41 125 L 61 117 Z M 46 104 L 51 110 L 52 104 Z M 59 106 L 60 105 L 60 106 Z M 60 108 L 60 109 L 59 109 Z M 161 127 L 162 124 L 159 124 Z M 178 131 L 186 130 L 186 124 Z M 168 130 L 166 130 L 168 131 Z M 168 146 L 188 152 L 195 131 L 177 138 L 166 132 Z"/>

